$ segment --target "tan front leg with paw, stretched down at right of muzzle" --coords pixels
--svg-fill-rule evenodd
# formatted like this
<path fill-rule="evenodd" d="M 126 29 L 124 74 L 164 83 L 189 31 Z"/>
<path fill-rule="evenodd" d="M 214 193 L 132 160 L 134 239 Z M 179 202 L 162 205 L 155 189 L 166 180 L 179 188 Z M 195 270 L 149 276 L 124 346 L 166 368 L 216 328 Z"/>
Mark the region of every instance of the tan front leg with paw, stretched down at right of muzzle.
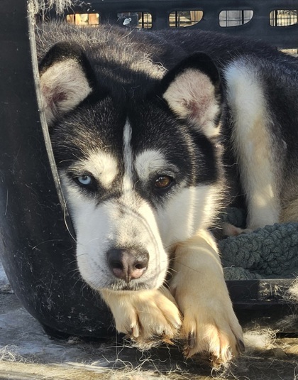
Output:
<path fill-rule="evenodd" d="M 172 293 L 184 315 L 181 336 L 187 357 L 210 352 L 213 364 L 226 364 L 243 349 L 213 237 L 200 231 L 177 246 Z"/>

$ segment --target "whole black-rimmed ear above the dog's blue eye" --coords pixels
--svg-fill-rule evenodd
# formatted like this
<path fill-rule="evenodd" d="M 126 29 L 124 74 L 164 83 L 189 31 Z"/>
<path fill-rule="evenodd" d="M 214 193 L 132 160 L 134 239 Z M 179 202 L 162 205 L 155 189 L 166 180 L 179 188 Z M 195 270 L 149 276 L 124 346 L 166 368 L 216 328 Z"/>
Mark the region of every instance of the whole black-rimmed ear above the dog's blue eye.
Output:
<path fill-rule="evenodd" d="M 92 93 L 94 74 L 79 45 L 57 43 L 40 63 L 40 89 L 50 126 Z"/>

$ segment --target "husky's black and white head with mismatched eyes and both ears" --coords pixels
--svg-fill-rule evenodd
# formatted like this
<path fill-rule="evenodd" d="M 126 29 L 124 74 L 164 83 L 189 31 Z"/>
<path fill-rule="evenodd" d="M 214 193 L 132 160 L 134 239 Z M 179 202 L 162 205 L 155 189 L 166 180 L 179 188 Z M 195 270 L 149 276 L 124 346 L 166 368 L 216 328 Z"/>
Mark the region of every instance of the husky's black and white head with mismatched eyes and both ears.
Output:
<path fill-rule="evenodd" d="M 96 289 L 158 288 L 175 246 L 217 212 L 219 74 L 197 54 L 148 91 L 144 82 L 140 96 L 99 82 L 73 44 L 55 45 L 40 65 L 79 271 Z"/>

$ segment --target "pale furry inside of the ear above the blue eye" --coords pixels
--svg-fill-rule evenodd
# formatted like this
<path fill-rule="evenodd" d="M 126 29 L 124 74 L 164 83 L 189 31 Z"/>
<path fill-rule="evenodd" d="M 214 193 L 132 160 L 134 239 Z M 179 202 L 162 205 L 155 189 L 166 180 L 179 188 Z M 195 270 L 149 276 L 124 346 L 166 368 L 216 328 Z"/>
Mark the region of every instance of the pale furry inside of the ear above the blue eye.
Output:
<path fill-rule="evenodd" d="M 77 60 L 53 63 L 40 76 L 45 117 L 53 123 L 59 114 L 65 114 L 82 102 L 92 92 L 87 77 Z"/>

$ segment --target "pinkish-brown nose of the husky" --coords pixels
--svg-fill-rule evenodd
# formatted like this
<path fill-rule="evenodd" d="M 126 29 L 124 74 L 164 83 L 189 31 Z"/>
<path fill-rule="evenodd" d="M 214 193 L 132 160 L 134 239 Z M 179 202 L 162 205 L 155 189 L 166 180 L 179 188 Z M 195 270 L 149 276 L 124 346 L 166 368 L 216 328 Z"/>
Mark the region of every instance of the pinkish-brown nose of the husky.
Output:
<path fill-rule="evenodd" d="M 108 264 L 117 278 L 126 282 L 140 278 L 148 268 L 149 254 L 138 249 L 109 249 Z"/>

